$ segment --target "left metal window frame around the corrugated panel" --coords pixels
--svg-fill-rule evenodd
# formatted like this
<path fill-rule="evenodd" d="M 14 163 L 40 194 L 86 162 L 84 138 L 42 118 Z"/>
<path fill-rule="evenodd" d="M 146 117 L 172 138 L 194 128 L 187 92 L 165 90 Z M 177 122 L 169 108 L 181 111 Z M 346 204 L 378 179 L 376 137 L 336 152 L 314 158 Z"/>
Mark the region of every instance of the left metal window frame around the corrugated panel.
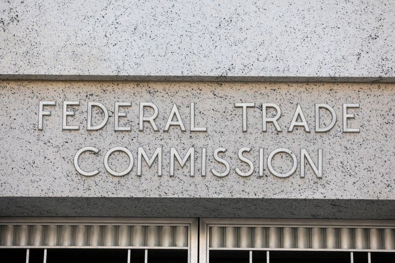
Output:
<path fill-rule="evenodd" d="M 188 227 L 187 247 L 162 246 L 0 246 L 1 248 L 24 249 L 188 249 L 188 263 L 198 262 L 198 219 L 197 218 L 126 218 L 126 217 L 0 217 L 0 225 L 179 225 Z M 27 253 L 29 253 L 27 251 Z"/>

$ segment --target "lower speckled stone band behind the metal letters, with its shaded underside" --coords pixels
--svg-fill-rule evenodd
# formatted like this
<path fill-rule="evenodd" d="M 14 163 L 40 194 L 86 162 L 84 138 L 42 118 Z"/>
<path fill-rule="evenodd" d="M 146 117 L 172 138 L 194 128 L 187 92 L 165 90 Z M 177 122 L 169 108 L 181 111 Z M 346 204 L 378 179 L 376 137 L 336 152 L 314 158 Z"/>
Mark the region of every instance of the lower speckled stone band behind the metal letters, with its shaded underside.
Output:
<path fill-rule="evenodd" d="M 71 215 L 81 216 L 82 211 L 89 216 L 109 216 L 111 211 L 118 216 L 215 217 L 226 216 L 228 207 L 230 216 L 240 217 L 362 218 L 361 213 L 366 218 L 394 216 L 395 84 L 2 81 L 0 99 L 2 215 L 70 215 L 66 211 L 78 206 L 85 210 L 75 209 Z M 54 100 L 57 106 L 45 108 L 52 115 L 44 117 L 43 130 L 38 130 L 42 100 Z M 70 125 L 80 125 L 80 130 L 62 131 L 63 101 L 80 102 L 79 107 L 70 107 L 76 115 L 68 119 Z M 88 101 L 103 103 L 109 110 L 109 121 L 99 131 L 86 130 Z M 115 102 L 132 103 L 131 108 L 122 108 L 127 116 L 120 118 L 120 125 L 131 126 L 131 131 L 114 131 Z M 149 125 L 138 131 L 139 102 L 158 106 L 159 132 Z M 207 127 L 207 132 L 190 132 L 190 102 L 196 103 L 197 125 Z M 244 133 L 241 109 L 234 107 L 237 102 L 256 103 L 255 109 L 248 110 L 248 131 Z M 173 103 L 179 107 L 186 132 L 177 127 L 163 132 Z M 283 132 L 277 133 L 268 124 L 268 132 L 262 133 L 261 103 L 275 103 L 281 108 L 278 122 Z M 298 103 L 311 133 L 300 127 L 286 132 Z M 328 132 L 314 131 L 315 103 L 326 103 L 337 114 L 336 124 Z M 342 133 L 343 103 L 359 103 L 359 109 L 350 110 L 356 118 L 349 121 L 349 126 L 360 128 L 359 133 Z M 322 116 L 323 123 L 328 124 L 328 116 Z M 99 118 L 95 115 L 93 120 L 97 123 Z M 74 154 L 85 146 L 101 150 L 80 158 L 84 169 L 100 171 L 93 177 L 79 175 L 73 165 Z M 105 152 L 115 146 L 126 147 L 134 155 L 132 171 L 120 178 L 108 174 L 103 166 Z M 149 154 L 157 147 L 163 148 L 163 176 L 157 176 L 156 164 L 151 169 L 144 164 L 142 176 L 136 176 L 138 147 Z M 170 147 L 181 154 L 196 148 L 195 177 L 189 176 L 189 163 L 182 169 L 176 163 L 175 176 L 169 176 Z M 205 177 L 200 176 L 202 147 L 207 148 L 208 156 Z M 228 149 L 224 158 L 230 163 L 231 173 L 225 178 L 217 178 L 209 171 L 223 169 L 212 158 L 213 150 L 219 147 Z M 253 161 L 255 171 L 247 178 L 234 170 L 248 169 L 237 158 L 241 147 L 252 148 L 246 156 Z M 295 174 L 280 179 L 265 168 L 264 176 L 259 177 L 260 147 L 265 149 L 265 156 L 280 147 L 294 151 L 298 157 Z M 307 149 L 315 162 L 317 149 L 323 149 L 322 179 L 309 166 L 305 178 L 300 178 L 301 148 Z M 279 170 L 290 168 L 284 155 L 278 155 L 273 163 Z M 114 154 L 110 164 L 122 170 L 127 167 L 127 158 Z M 106 198 L 87 201 L 94 197 Z M 224 198 L 226 207 L 219 198 Z M 158 204 L 162 204 L 159 209 Z M 253 204 L 255 209 L 251 209 Z M 363 213 L 353 204 L 365 204 L 362 207 L 370 210 Z M 179 209 L 171 213 L 161 210 L 174 205 Z M 276 209 L 269 213 L 269 207 Z"/>

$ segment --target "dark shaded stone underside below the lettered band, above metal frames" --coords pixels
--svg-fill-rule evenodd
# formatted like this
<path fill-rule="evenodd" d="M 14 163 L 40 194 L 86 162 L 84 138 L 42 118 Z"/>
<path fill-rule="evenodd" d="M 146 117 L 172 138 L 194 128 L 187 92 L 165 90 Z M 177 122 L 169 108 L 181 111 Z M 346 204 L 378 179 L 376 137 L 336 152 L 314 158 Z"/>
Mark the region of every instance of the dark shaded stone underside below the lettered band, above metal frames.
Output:
<path fill-rule="evenodd" d="M 0 197 L 5 217 L 166 217 L 395 220 L 395 200 Z"/>

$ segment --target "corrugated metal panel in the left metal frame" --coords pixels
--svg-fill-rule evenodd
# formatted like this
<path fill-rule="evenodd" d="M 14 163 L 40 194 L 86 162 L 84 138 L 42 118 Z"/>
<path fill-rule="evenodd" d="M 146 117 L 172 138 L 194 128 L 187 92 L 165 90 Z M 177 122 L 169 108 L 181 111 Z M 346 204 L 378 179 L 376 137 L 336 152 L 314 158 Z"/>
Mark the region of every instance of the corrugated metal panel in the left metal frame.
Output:
<path fill-rule="evenodd" d="M 188 247 L 186 225 L 0 225 L 0 246 Z"/>

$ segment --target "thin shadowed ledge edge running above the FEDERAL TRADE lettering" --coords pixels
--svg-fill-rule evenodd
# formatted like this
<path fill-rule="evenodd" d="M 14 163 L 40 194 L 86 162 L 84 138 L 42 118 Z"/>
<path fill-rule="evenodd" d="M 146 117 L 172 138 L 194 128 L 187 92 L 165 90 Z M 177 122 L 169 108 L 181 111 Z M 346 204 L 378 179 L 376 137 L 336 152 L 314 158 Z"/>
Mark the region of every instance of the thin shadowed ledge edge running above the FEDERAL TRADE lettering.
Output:
<path fill-rule="evenodd" d="M 226 76 L 226 75 L 27 75 L 0 74 L 0 80 L 233 81 L 233 82 L 395 82 L 395 76 Z"/>

